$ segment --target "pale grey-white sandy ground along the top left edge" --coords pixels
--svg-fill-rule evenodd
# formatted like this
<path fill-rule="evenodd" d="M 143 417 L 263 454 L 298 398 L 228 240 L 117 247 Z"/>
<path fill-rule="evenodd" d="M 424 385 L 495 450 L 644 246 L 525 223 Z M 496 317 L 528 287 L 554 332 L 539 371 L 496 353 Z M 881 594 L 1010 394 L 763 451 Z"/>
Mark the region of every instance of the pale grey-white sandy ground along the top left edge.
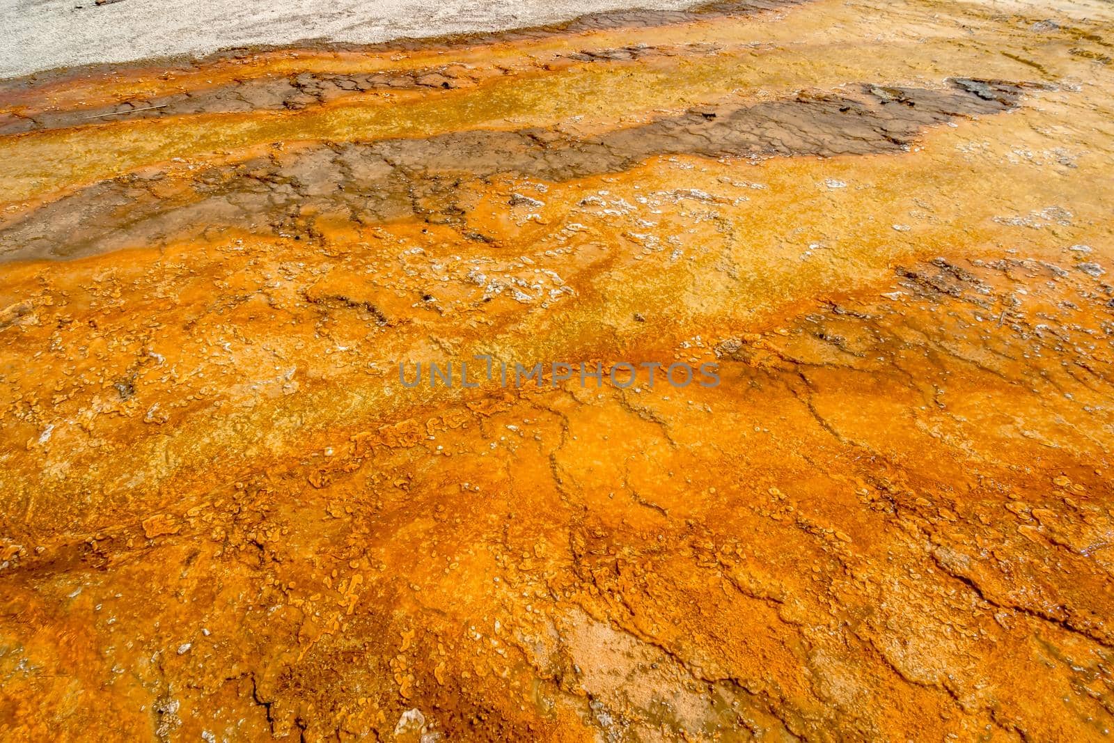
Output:
<path fill-rule="evenodd" d="M 642 0 L 681 9 L 692 0 Z M 0 77 L 303 39 L 375 42 L 551 23 L 631 0 L 0 0 Z"/>

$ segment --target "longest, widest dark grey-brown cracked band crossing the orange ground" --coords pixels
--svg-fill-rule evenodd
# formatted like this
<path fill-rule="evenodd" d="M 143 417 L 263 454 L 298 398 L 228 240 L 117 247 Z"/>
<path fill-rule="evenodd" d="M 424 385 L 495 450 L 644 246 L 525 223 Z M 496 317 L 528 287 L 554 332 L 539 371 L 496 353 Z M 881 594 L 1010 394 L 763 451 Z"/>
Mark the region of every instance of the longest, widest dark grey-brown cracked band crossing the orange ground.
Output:
<path fill-rule="evenodd" d="M 939 90 L 850 86 L 750 106 L 702 106 L 587 138 L 530 128 L 322 143 L 205 168 L 194 175 L 186 196 L 173 199 L 160 198 L 153 188 L 165 177 L 162 173 L 126 175 L 0 226 L 0 261 L 158 246 L 224 225 L 314 241 L 320 235 L 313 215 L 321 213 L 360 225 L 404 218 L 462 225 L 472 206 L 462 186 L 499 174 L 563 182 L 619 173 L 657 155 L 766 158 L 902 151 L 927 127 L 1014 108 L 1026 87 L 973 78 L 952 80 Z"/>

